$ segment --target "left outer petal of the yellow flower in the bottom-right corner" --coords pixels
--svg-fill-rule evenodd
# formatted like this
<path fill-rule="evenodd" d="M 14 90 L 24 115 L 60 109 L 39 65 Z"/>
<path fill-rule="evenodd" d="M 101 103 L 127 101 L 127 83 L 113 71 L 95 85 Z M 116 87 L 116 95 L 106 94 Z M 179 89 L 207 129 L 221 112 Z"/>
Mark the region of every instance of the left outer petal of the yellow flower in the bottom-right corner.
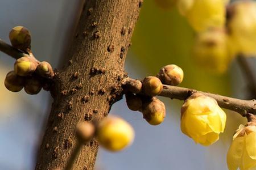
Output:
<path fill-rule="evenodd" d="M 244 137 L 234 139 L 227 154 L 227 163 L 229 170 L 236 170 L 241 165 L 243 154 Z"/>

